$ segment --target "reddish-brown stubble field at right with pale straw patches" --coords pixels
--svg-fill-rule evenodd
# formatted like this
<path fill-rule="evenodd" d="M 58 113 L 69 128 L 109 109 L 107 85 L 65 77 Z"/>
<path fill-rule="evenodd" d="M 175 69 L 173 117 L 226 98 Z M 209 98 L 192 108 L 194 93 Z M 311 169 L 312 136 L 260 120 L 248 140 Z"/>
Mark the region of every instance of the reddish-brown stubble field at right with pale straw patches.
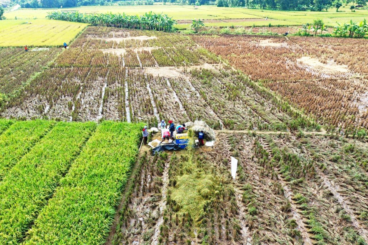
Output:
<path fill-rule="evenodd" d="M 367 128 L 365 40 L 255 35 L 192 38 L 319 122 L 347 132 Z"/>

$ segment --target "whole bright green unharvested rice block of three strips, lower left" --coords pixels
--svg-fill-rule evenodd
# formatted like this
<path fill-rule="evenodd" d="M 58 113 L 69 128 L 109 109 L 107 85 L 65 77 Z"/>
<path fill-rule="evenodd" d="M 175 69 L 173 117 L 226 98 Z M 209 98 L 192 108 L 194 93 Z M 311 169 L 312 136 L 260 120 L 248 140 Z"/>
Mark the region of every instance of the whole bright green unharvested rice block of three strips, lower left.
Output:
<path fill-rule="evenodd" d="M 0 243 L 103 242 L 142 126 L 0 119 Z"/>

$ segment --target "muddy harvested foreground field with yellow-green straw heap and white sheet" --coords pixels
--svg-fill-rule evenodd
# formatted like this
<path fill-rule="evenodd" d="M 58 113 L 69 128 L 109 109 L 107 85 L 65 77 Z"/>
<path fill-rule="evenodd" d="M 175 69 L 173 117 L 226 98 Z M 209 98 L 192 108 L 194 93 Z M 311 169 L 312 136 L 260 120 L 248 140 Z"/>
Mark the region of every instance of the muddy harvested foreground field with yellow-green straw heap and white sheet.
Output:
<path fill-rule="evenodd" d="M 368 149 L 356 140 L 222 132 L 213 148 L 147 150 L 107 244 L 368 241 Z M 239 160 L 235 180 L 231 156 Z"/>

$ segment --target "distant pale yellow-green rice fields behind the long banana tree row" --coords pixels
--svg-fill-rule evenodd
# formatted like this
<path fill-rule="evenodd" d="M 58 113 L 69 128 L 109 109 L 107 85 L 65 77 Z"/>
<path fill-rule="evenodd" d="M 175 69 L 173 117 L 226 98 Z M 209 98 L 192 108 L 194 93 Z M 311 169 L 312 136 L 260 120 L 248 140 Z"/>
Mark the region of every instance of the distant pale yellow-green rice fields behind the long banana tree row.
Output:
<path fill-rule="evenodd" d="M 144 14 L 149 11 L 155 13 L 165 13 L 176 20 L 191 20 L 194 18 L 205 20 L 207 26 L 273 26 L 282 25 L 301 25 L 312 22 L 313 19 L 322 18 L 329 26 L 334 26 L 336 22 L 344 23 L 353 19 L 354 21 L 362 21 L 368 18 L 367 10 L 355 10 L 351 12 L 350 6 L 343 6 L 339 12 L 335 8 L 330 8 L 328 12 L 310 12 L 310 11 L 278 11 L 278 10 L 260 10 L 247 8 L 220 8 L 216 6 L 199 6 L 194 9 L 193 6 L 187 5 L 153 5 L 153 6 L 85 6 L 77 8 L 63 8 L 63 11 L 78 10 L 81 13 L 125 13 L 129 15 Z M 61 10 L 61 9 L 59 9 Z M 6 13 L 7 19 L 15 17 L 21 19 L 44 19 L 50 9 L 20 9 L 10 13 Z M 267 19 L 265 19 L 267 17 Z M 232 19 L 232 21 L 224 21 Z M 177 24 L 176 28 L 187 28 L 188 23 Z"/>

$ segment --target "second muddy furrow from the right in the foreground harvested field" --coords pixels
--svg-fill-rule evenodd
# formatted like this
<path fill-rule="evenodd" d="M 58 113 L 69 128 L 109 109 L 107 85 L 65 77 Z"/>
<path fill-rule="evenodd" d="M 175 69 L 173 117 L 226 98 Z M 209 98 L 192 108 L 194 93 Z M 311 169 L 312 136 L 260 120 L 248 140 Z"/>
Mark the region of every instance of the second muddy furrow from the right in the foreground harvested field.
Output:
<path fill-rule="evenodd" d="M 291 199 L 291 197 L 293 196 L 293 193 L 291 192 L 289 187 L 287 187 L 287 184 L 282 179 L 281 175 L 279 174 L 277 176 L 280 180 L 279 182 L 280 182 L 282 188 L 284 189 L 284 196 L 286 197 L 287 200 L 289 200 L 289 203 L 290 203 L 290 206 L 291 206 L 291 214 L 293 214 L 293 219 L 298 224 L 297 228 L 298 228 L 298 230 L 300 231 L 300 233 L 303 237 L 304 244 L 313 245 L 313 242 L 312 242 L 311 238 L 309 238 L 308 231 L 304 226 L 303 219 L 300 216 L 300 214 L 297 212 L 297 207 L 294 205 L 293 200 Z"/>

